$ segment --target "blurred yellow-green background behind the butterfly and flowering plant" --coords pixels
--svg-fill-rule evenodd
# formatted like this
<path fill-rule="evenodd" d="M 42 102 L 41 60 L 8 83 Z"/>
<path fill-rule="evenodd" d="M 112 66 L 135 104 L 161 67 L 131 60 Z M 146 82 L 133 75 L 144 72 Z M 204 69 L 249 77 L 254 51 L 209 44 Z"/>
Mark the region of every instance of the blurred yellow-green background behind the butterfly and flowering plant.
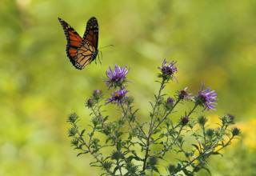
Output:
<path fill-rule="evenodd" d="M 58 17 L 83 34 L 99 22 L 102 65 L 75 70 Z M 85 99 L 115 63 L 129 66 L 130 94 L 145 116 L 163 58 L 178 61 L 166 93 L 202 82 L 218 91 L 211 122 L 234 114 L 242 138 L 209 165 L 213 175 L 256 175 L 256 1 L 0 1 L 0 175 L 99 175 L 76 157 L 67 115 L 89 122 Z M 146 116 L 145 116 L 146 117 Z M 146 121 L 146 118 L 140 119 Z M 198 175 L 209 175 L 202 171 Z"/>

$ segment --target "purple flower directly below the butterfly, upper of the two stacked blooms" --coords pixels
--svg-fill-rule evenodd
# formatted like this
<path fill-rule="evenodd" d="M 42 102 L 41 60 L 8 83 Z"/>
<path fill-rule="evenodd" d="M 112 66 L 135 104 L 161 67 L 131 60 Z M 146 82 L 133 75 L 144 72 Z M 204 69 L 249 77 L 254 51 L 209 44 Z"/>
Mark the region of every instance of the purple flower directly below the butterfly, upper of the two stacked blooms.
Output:
<path fill-rule="evenodd" d="M 126 82 L 126 74 L 128 74 L 128 70 L 125 67 L 121 67 L 118 65 L 114 66 L 114 70 L 109 67 L 109 70 L 106 70 L 106 76 L 108 80 L 106 80 L 106 86 L 110 87 L 121 87 L 123 82 Z"/>

